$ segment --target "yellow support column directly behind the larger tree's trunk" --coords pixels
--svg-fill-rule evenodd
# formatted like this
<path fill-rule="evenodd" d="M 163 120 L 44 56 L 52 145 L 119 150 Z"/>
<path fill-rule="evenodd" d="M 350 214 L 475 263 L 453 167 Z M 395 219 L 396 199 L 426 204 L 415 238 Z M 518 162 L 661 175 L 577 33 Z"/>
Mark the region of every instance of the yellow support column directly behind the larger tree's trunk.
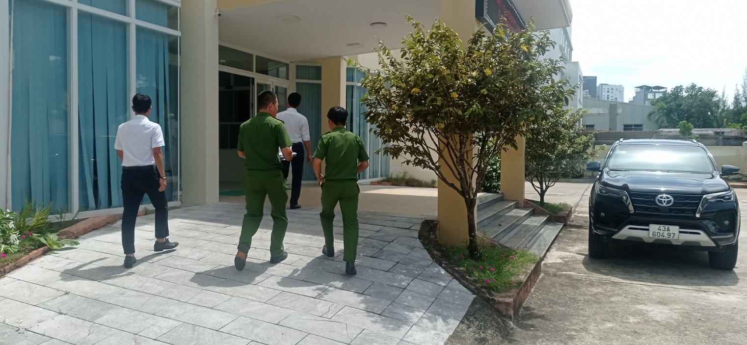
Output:
<path fill-rule="evenodd" d="M 474 0 L 441 0 L 441 19 L 459 34 L 463 44 L 467 44 L 472 33 L 481 27 L 480 22 L 474 16 Z M 425 25 L 428 24 L 425 23 Z M 443 148 L 440 149 L 443 150 Z M 443 163 L 441 167 L 443 167 L 447 181 L 459 185 L 456 176 L 451 174 Z M 438 240 L 448 245 L 464 244 L 469 240 L 467 215 L 467 207 L 462 196 L 439 179 Z"/>

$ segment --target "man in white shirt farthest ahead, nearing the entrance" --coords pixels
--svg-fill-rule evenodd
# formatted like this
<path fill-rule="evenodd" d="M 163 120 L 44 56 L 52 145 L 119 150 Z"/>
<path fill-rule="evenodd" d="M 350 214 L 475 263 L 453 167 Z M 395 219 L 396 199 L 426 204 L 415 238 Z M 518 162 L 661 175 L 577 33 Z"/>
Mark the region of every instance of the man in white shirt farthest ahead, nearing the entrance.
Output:
<path fill-rule="evenodd" d="M 311 140 L 309 138 L 309 120 L 300 114 L 296 108 L 301 104 L 301 95 L 291 93 L 288 95 L 288 110 L 278 113 L 277 119 L 285 122 L 288 137 L 293 143 L 292 149 L 296 154 L 292 161 L 283 161 L 282 173 L 288 179 L 288 171 L 293 167 L 293 181 L 291 182 L 291 210 L 301 208 L 298 198 L 301 196 L 301 179 L 303 178 L 304 155 L 306 146 L 306 164 L 311 164 Z"/>

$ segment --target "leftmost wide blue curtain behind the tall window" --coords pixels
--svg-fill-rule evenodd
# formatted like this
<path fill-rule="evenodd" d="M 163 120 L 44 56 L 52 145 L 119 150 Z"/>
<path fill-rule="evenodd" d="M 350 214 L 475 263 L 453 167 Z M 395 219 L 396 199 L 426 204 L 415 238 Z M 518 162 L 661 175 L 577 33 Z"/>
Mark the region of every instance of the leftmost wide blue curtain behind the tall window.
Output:
<path fill-rule="evenodd" d="M 12 207 L 28 200 L 70 211 L 67 10 L 13 1 L 12 16 Z"/>

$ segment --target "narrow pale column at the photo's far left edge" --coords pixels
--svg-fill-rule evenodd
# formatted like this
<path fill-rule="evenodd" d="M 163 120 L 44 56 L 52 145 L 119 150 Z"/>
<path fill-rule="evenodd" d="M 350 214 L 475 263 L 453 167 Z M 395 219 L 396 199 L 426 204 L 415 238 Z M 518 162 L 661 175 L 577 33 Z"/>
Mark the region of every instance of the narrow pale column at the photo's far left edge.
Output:
<path fill-rule="evenodd" d="M 10 19 L 8 0 L 0 0 L 0 28 Z M 10 34 L 0 34 L 0 208 L 10 208 Z"/>

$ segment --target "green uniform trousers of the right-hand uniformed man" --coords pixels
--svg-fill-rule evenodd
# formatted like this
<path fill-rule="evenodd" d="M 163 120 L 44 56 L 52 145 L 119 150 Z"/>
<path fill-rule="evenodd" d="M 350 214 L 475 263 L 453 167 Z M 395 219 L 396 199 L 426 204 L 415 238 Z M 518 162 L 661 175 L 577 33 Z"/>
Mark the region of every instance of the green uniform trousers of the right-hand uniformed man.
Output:
<path fill-rule="evenodd" d="M 342 240 L 345 262 L 356 262 L 358 253 L 358 194 L 356 180 L 325 181 L 322 185 L 322 212 L 319 214 L 327 248 L 335 246 L 335 206 L 340 202 L 342 211 Z"/>

